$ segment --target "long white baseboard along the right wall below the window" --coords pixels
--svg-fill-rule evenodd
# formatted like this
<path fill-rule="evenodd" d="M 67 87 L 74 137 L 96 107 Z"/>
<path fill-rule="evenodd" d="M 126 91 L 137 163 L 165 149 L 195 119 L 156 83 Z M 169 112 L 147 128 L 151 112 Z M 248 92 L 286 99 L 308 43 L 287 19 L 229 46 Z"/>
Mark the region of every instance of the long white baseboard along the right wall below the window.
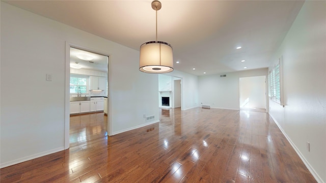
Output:
<path fill-rule="evenodd" d="M 271 115 L 270 113 L 269 113 L 269 115 L 270 115 L 271 118 L 273 118 L 273 120 L 275 121 L 276 125 L 281 130 L 282 134 L 285 136 L 285 138 L 287 139 L 287 141 L 289 141 L 289 143 L 291 144 L 291 146 L 295 150 L 295 153 L 304 162 L 304 164 L 306 165 L 306 167 L 308 168 L 308 170 L 310 171 L 310 173 L 312 174 L 312 176 L 314 176 L 314 178 L 317 180 L 317 182 L 319 182 L 319 183 L 325 183 L 324 181 L 322 181 L 322 179 L 316 173 L 316 171 L 312 168 L 312 166 L 309 164 L 309 162 L 306 160 L 306 158 L 302 155 L 301 151 L 295 146 L 295 144 L 292 142 L 292 140 L 290 139 L 290 137 L 287 136 L 287 134 L 285 133 L 285 131 L 283 130 L 283 128 L 281 127 L 281 125 L 277 122 L 277 120 L 273 117 L 273 115 Z"/>

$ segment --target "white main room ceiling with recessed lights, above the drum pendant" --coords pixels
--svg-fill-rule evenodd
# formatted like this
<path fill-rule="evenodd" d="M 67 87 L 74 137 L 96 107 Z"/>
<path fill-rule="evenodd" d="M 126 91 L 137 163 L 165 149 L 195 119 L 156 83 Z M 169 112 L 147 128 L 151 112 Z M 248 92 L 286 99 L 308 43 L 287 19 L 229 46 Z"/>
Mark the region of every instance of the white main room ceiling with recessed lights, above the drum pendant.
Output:
<path fill-rule="evenodd" d="M 152 1 L 5 2 L 135 50 L 145 42 L 155 41 Z M 174 69 L 204 75 L 268 67 L 271 54 L 304 2 L 161 3 L 157 12 L 158 41 L 172 45 L 174 62 L 180 62 L 174 64 Z M 237 46 L 242 48 L 235 49 Z"/>

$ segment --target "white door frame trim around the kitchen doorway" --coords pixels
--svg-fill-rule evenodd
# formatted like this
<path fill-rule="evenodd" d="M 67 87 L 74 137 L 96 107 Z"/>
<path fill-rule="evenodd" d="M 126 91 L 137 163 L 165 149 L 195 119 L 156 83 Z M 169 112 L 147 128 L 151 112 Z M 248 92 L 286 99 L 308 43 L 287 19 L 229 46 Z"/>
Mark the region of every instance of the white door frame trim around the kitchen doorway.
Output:
<path fill-rule="evenodd" d="M 97 54 L 105 55 L 108 57 L 107 60 L 107 121 L 106 121 L 106 131 L 108 135 L 112 135 L 112 115 L 111 115 L 111 72 L 110 72 L 110 59 L 111 55 L 107 52 L 98 51 L 94 48 L 89 48 L 86 46 L 80 46 L 78 44 L 69 43 L 66 41 L 66 63 L 65 63 L 65 125 L 64 125 L 64 149 L 68 149 L 70 146 L 69 130 L 70 130 L 70 47 L 81 49 L 89 52 L 94 52 Z M 107 130 L 108 129 L 108 130 Z"/>

